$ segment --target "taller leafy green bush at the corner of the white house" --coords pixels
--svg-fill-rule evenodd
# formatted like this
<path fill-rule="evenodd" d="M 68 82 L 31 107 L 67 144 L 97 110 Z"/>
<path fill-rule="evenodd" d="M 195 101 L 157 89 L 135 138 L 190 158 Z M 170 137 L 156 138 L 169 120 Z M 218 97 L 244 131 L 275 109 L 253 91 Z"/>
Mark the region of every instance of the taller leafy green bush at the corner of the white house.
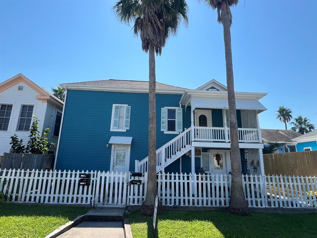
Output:
<path fill-rule="evenodd" d="M 49 150 L 49 147 L 54 145 L 54 143 L 49 143 L 47 139 L 47 133 L 49 132 L 49 128 L 46 128 L 42 136 L 40 136 L 39 131 L 39 122 L 40 120 L 36 115 L 33 115 L 33 122 L 30 129 L 29 135 L 29 142 L 26 147 L 25 153 L 32 153 L 32 154 L 44 154 L 45 151 Z"/>

